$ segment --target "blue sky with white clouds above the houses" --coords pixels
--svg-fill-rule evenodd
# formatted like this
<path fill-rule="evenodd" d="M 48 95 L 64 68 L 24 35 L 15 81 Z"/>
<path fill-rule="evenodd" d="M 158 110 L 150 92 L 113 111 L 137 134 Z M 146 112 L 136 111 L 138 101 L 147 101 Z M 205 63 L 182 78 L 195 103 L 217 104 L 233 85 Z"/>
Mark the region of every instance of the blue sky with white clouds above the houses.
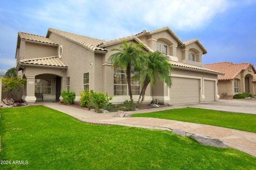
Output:
<path fill-rule="evenodd" d="M 48 28 L 110 40 L 168 26 L 181 40 L 201 41 L 204 64 L 256 65 L 255 18 L 253 0 L 2 1 L 0 70 L 15 66 L 18 31 L 45 36 Z"/>

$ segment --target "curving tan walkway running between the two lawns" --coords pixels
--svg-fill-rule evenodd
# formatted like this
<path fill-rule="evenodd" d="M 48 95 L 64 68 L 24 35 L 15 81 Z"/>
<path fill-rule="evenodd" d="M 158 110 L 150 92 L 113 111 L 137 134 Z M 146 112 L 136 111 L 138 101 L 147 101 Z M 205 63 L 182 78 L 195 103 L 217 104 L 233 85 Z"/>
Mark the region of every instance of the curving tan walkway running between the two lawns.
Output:
<path fill-rule="evenodd" d="M 256 156 L 256 133 L 221 128 L 218 126 L 164 120 L 150 117 L 115 117 L 116 113 L 97 114 L 95 112 L 86 111 L 81 108 L 65 106 L 59 103 L 43 103 L 44 106 L 53 108 L 57 111 L 66 113 L 78 120 L 87 123 L 105 124 L 105 125 L 123 125 L 137 128 L 157 129 L 157 130 L 173 130 L 180 129 L 188 133 L 202 134 L 207 137 L 220 138 L 225 144 L 231 148 L 235 148 L 246 152 L 247 154 Z M 152 111 L 161 109 L 181 108 L 181 105 L 175 107 L 156 108 Z M 140 112 L 142 111 L 135 111 Z"/>

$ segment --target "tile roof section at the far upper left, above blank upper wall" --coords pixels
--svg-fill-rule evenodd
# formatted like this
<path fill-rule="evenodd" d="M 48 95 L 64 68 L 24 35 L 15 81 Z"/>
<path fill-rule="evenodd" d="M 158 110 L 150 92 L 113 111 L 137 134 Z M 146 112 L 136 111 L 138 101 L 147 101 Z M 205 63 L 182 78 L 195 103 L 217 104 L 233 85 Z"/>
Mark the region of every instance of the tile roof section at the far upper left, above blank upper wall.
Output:
<path fill-rule="evenodd" d="M 50 38 L 46 38 L 43 36 L 38 36 L 38 35 L 31 34 L 31 33 L 26 33 L 26 32 L 19 32 L 18 35 L 20 36 L 21 39 L 36 41 L 39 43 L 58 45 Z"/>

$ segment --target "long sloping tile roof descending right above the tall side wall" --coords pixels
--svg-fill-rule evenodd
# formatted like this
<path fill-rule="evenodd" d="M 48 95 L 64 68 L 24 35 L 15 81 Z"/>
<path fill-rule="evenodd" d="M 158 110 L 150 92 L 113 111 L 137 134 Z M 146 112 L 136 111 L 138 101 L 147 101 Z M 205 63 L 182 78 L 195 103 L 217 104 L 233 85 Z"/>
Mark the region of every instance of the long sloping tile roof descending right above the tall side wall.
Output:
<path fill-rule="evenodd" d="M 105 42 L 104 40 L 81 36 L 81 35 L 77 35 L 75 33 L 60 31 L 60 30 L 56 30 L 53 28 L 48 29 L 46 37 L 49 37 L 49 35 L 50 35 L 49 32 L 56 33 L 57 35 L 67 38 L 68 40 L 73 41 L 74 43 L 77 43 L 91 51 L 100 50 L 100 51 L 107 52 L 107 50 L 105 48 L 101 48 L 101 47 L 97 46 L 98 44 Z"/>

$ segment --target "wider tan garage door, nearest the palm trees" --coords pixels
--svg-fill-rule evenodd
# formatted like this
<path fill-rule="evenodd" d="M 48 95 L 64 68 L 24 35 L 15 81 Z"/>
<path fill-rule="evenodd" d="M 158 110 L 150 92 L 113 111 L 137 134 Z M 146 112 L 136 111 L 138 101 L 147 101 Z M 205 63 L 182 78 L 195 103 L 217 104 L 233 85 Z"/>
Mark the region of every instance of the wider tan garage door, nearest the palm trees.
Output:
<path fill-rule="evenodd" d="M 199 94 L 198 79 L 172 78 L 171 104 L 199 102 Z"/>

